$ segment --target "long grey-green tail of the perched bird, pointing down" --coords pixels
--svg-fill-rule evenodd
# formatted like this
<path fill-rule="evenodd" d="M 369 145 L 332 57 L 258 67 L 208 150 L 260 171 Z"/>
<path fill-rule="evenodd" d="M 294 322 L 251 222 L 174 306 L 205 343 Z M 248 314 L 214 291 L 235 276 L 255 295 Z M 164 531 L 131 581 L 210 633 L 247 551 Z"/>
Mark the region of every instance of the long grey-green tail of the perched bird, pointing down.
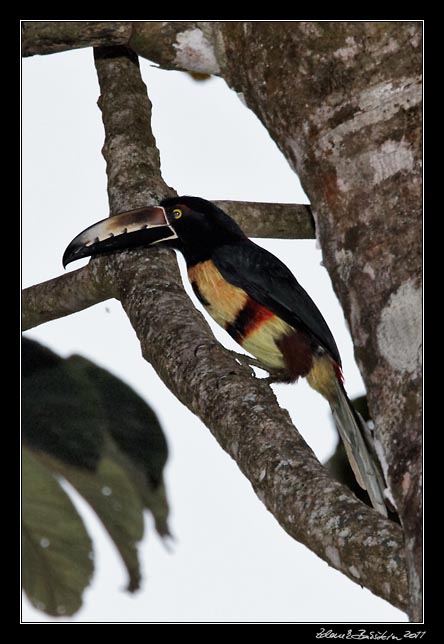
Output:
<path fill-rule="evenodd" d="M 352 407 L 342 382 L 338 378 L 335 388 L 336 396 L 330 398 L 329 402 L 351 468 L 359 485 L 367 490 L 375 510 L 383 516 L 387 516 L 387 507 L 384 501 L 386 486 L 373 447 L 370 430 L 360 414 Z"/>

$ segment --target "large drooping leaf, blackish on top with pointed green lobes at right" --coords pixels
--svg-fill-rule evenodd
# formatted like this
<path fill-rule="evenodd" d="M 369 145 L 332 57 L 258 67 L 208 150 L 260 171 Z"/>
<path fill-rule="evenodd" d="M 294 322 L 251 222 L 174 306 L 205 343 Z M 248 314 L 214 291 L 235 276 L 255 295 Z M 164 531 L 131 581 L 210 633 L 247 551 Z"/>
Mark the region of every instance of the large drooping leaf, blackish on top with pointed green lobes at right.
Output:
<path fill-rule="evenodd" d="M 37 458 L 46 471 L 64 477 L 91 505 L 124 561 L 128 590 L 134 591 L 140 584 L 137 543 L 144 508 L 152 512 L 158 532 L 168 534 L 162 481 L 167 445 L 157 417 L 130 387 L 89 360 L 62 359 L 28 339 L 22 346 L 22 435 L 33 462 Z M 24 472 L 28 466 L 24 462 Z M 24 478 L 24 488 L 28 484 Z M 55 479 L 53 484 L 58 486 Z M 41 574 L 32 558 L 27 565 L 28 576 Z"/>

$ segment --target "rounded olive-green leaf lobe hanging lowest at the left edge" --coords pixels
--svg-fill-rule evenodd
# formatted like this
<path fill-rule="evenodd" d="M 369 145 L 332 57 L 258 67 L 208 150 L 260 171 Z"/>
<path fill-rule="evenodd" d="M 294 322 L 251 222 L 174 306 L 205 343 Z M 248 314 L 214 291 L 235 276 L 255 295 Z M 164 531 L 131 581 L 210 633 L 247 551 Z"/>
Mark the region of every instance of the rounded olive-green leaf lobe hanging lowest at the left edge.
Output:
<path fill-rule="evenodd" d="M 73 615 L 94 570 L 92 552 L 68 495 L 23 448 L 22 583 L 32 604 L 50 615 Z"/>

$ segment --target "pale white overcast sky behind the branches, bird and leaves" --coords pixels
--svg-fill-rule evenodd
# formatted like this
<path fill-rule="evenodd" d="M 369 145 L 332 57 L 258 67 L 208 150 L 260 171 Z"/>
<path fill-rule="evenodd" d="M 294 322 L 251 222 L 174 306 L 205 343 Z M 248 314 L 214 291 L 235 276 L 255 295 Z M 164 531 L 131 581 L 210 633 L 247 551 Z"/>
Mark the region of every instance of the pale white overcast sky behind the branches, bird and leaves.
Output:
<path fill-rule="evenodd" d="M 207 199 L 307 202 L 267 131 L 224 81 L 197 83 L 144 60 L 141 69 L 169 185 Z M 108 204 L 92 51 L 25 59 L 22 79 L 26 287 L 62 272 L 68 242 L 106 217 Z M 315 242 L 260 243 L 291 268 L 317 302 L 339 346 L 349 394 L 363 393 L 342 311 Z M 212 328 L 233 347 L 224 331 Z M 147 518 L 140 547 L 144 584 L 136 595 L 124 592 L 125 571 L 114 546 L 75 497 L 95 541 L 96 574 L 84 607 L 70 621 L 406 621 L 403 613 L 330 568 L 279 527 L 234 461 L 142 359 L 117 301 L 27 335 L 63 356 L 80 353 L 132 385 L 159 415 L 170 449 L 166 484 L 174 551 L 165 550 Z M 327 403 L 305 382 L 274 389 L 324 461 L 335 444 Z M 60 621 L 36 611 L 26 598 L 23 620 Z"/>

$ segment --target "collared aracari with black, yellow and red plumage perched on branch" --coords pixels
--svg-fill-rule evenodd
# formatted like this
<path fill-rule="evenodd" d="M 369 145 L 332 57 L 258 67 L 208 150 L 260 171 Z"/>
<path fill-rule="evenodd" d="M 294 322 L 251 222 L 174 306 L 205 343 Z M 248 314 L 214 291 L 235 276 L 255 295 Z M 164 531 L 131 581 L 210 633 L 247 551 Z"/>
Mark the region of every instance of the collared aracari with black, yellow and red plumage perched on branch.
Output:
<path fill-rule="evenodd" d="M 305 377 L 328 400 L 358 483 L 373 507 L 387 516 L 384 479 L 368 429 L 345 392 L 341 358 L 327 323 L 289 269 L 248 239 L 223 210 L 184 196 L 110 217 L 69 244 L 63 265 L 157 243 L 183 254 L 206 311 L 275 380 Z"/>

